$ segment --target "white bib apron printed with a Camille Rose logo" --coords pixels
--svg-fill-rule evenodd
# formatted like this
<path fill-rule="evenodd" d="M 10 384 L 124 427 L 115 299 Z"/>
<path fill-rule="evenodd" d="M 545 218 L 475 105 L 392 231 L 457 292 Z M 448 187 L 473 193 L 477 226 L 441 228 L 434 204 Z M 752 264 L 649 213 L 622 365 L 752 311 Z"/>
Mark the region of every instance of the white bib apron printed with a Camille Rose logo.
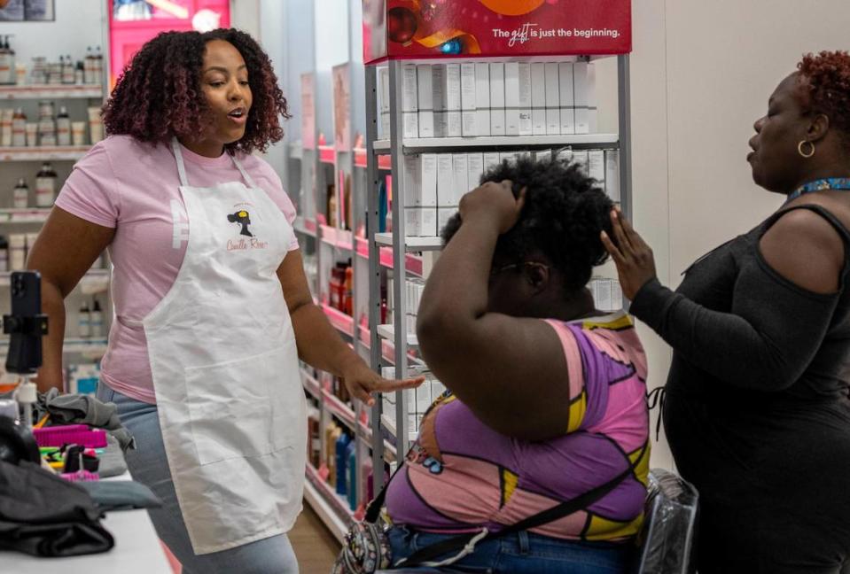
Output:
<path fill-rule="evenodd" d="M 142 325 L 183 521 L 203 555 L 289 531 L 301 509 L 307 404 L 277 268 L 292 226 L 242 182 L 191 187 L 172 141 L 189 244 Z"/>

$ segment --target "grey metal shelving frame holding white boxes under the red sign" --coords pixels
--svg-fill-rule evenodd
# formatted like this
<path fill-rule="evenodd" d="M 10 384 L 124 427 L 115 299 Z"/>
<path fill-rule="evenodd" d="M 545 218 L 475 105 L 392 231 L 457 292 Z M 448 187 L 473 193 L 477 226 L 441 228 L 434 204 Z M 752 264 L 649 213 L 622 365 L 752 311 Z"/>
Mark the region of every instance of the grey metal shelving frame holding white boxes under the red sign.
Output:
<path fill-rule="evenodd" d="M 410 258 L 425 260 L 425 265 L 420 266 L 417 276 L 425 278 L 427 271 L 433 262 L 435 252 L 441 249 L 440 237 L 406 237 L 404 232 L 404 198 L 406 197 L 404 185 L 404 156 L 418 153 L 439 152 L 465 152 L 465 151 L 542 151 L 558 148 L 604 149 L 619 150 L 619 178 L 620 178 L 620 206 L 627 214 L 631 213 L 631 149 L 629 133 L 629 59 L 628 55 L 613 56 L 617 58 L 617 90 L 618 90 L 618 128 L 616 134 L 594 133 L 581 135 L 563 136 L 474 136 L 474 137 L 432 137 L 432 138 L 402 138 L 402 64 L 427 63 L 435 64 L 442 62 L 461 63 L 476 61 L 475 58 L 447 58 L 446 60 L 424 59 L 404 60 L 390 58 L 379 65 L 366 66 L 366 152 L 369 159 L 367 178 L 370 187 L 376 188 L 379 184 L 379 162 L 380 155 L 389 155 L 391 173 L 393 175 L 394 190 L 392 202 L 393 232 L 377 233 L 378 229 L 378 198 L 377 194 L 368 194 L 367 206 L 369 237 L 369 324 L 370 324 L 370 348 L 371 366 L 381 372 L 382 368 L 394 365 L 395 376 L 402 378 L 421 372 L 423 365 L 420 361 L 412 364 L 409 351 L 417 347 L 418 341 L 415 335 L 404 335 L 408 333 L 409 315 L 407 313 L 404 297 L 405 275 L 397 274 L 394 281 L 394 322 L 391 325 L 380 324 L 380 282 L 381 263 L 392 255 L 392 267 L 394 269 L 410 269 Z M 542 58 L 511 58 L 511 61 L 540 61 Z M 563 56 L 547 56 L 546 61 L 575 61 L 576 57 L 570 54 Z M 580 59 L 591 59 L 580 57 Z M 592 58 L 596 59 L 596 58 Z M 494 61 L 487 58 L 485 61 Z M 389 138 L 378 139 L 378 66 L 389 67 L 389 112 L 390 112 L 390 134 Z M 392 342 L 394 346 L 394 361 L 387 361 L 380 353 L 383 344 Z M 394 444 L 395 450 L 402 456 L 409 447 L 409 413 L 407 402 L 402 398 L 402 392 L 396 394 L 395 412 L 383 413 L 382 404 L 378 401 L 372 409 L 371 425 L 373 437 L 389 437 Z M 382 484 L 384 477 L 379 475 L 383 469 L 382 454 L 384 441 L 373 440 L 373 468 L 374 482 Z"/>

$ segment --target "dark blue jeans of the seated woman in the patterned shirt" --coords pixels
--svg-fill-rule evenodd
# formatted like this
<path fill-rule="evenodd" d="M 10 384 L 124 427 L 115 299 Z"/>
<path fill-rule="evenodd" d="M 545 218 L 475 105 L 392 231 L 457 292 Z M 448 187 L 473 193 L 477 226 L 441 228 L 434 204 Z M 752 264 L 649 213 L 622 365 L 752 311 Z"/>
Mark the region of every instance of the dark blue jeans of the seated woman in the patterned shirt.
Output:
<path fill-rule="evenodd" d="M 433 534 L 405 526 L 389 531 L 393 562 L 412 555 L 435 542 L 452 538 L 453 534 Z M 634 552 L 631 544 L 582 542 L 554 539 L 531 532 L 508 534 L 475 545 L 471 555 L 440 569 L 411 568 L 422 572 L 492 572 L 493 574 L 623 574 L 628 571 Z M 439 562 L 457 553 L 435 560 Z M 399 568 L 403 568 L 400 566 Z M 405 570 L 408 571 L 408 570 Z"/>

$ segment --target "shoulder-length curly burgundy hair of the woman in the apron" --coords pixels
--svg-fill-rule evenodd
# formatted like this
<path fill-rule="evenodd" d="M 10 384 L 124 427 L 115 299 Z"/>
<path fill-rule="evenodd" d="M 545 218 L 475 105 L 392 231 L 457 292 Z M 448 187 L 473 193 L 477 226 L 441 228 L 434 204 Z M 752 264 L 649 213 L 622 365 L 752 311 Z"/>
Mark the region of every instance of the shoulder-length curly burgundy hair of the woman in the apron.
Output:
<path fill-rule="evenodd" d="M 233 28 L 203 34 L 163 32 L 145 43 L 124 68 L 104 106 L 106 133 L 151 143 L 203 133 L 208 109 L 200 73 L 207 42 L 212 40 L 224 40 L 239 50 L 253 96 L 245 136 L 224 149 L 230 154 L 266 151 L 269 143 L 280 141 L 284 136 L 280 118 L 289 114 L 269 56 L 250 35 Z"/>

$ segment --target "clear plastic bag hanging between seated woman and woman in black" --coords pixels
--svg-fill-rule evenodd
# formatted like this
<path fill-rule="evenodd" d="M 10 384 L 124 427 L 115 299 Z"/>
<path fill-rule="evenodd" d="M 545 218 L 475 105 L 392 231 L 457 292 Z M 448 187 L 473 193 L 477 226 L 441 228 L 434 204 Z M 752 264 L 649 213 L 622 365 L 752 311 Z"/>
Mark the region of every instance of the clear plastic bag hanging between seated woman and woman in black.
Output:
<path fill-rule="evenodd" d="M 636 574 L 692 574 L 699 495 L 663 469 L 650 471 Z"/>

